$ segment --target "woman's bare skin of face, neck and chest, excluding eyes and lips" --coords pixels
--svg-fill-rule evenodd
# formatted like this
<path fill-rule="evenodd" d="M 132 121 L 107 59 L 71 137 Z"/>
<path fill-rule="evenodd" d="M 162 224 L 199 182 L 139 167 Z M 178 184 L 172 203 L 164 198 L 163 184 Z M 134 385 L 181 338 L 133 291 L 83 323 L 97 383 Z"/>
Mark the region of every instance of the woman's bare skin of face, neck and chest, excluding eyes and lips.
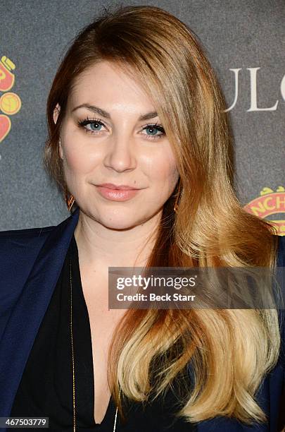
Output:
<path fill-rule="evenodd" d="M 110 119 L 81 104 L 95 105 Z M 60 109 L 60 107 L 57 107 Z M 68 189 L 80 207 L 75 228 L 82 291 L 91 328 L 94 368 L 94 419 L 101 423 L 110 400 L 107 354 L 110 339 L 124 309 L 108 309 L 108 266 L 144 266 L 156 239 L 163 205 L 178 180 L 175 156 L 164 135 L 147 124 L 160 124 L 153 103 L 137 82 L 118 65 L 106 61 L 82 73 L 68 99 L 61 129 L 60 156 Z M 58 116 L 54 112 L 54 121 Z M 100 119 L 79 127 L 77 122 Z M 94 127 L 95 126 L 95 127 Z M 88 131 L 89 129 L 89 131 Z M 96 130 L 96 133 L 91 133 Z M 118 202 L 103 198 L 96 186 L 127 184 L 141 190 Z"/>

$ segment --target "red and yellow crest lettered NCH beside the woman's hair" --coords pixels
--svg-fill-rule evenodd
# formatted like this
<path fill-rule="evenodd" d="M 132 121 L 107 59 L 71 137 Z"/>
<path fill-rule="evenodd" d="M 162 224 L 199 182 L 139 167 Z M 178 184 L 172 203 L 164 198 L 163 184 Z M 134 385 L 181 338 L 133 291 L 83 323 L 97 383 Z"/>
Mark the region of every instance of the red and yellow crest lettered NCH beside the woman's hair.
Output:
<path fill-rule="evenodd" d="M 285 236 L 285 188 L 278 186 L 276 191 L 271 188 L 263 188 L 260 196 L 254 198 L 250 203 L 244 206 L 248 213 L 269 218 L 270 222 L 277 228 L 279 236 Z M 272 218 L 272 216 L 274 216 Z M 280 218 L 279 218 L 280 216 Z M 277 217 L 277 219 L 275 219 Z"/>

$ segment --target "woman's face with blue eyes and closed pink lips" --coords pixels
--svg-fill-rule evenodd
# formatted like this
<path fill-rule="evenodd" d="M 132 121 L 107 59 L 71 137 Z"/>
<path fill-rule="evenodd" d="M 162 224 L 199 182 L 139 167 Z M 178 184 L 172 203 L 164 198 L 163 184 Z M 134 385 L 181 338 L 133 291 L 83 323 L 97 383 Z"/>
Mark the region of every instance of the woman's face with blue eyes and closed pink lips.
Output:
<path fill-rule="evenodd" d="M 150 220 L 174 191 L 175 157 L 155 111 L 143 88 L 108 61 L 84 71 L 69 97 L 59 147 L 65 180 L 80 210 L 108 228 Z"/>

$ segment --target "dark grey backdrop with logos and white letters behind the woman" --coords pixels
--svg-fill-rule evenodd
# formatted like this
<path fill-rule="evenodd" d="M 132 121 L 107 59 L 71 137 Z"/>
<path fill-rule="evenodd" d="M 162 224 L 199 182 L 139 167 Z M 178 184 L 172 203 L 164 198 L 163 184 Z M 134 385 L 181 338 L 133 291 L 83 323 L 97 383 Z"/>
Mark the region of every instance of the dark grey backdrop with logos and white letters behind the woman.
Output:
<path fill-rule="evenodd" d="M 42 165 L 46 98 L 75 34 L 102 6 L 119 4 L 164 8 L 198 35 L 232 119 L 237 196 L 285 235 L 284 0 L 2 0 L 0 231 L 68 217 Z"/>

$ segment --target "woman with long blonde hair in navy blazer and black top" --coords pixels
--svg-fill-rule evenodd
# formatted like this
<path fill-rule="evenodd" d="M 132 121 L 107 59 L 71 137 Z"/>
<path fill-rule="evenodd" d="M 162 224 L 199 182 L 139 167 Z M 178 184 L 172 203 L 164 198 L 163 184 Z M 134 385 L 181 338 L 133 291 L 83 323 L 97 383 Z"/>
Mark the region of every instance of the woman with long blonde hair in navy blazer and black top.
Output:
<path fill-rule="evenodd" d="M 1 232 L 1 416 L 62 431 L 284 426 L 280 311 L 108 310 L 108 267 L 284 266 L 284 238 L 234 193 L 224 108 L 196 36 L 163 9 L 120 7 L 77 35 L 44 150 L 72 214 Z"/>

